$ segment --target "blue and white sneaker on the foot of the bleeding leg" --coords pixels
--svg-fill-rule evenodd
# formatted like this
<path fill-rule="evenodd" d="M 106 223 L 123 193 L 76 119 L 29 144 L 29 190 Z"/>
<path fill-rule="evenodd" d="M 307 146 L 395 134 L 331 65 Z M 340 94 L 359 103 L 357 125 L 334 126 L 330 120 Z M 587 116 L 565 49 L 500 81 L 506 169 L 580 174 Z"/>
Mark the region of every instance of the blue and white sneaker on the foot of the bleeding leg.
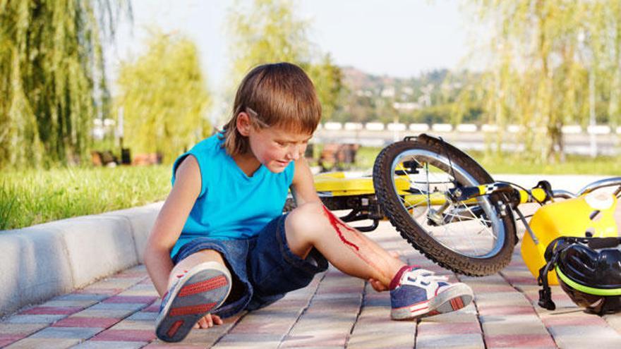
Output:
<path fill-rule="evenodd" d="M 396 287 L 390 290 L 390 317 L 394 320 L 453 312 L 469 305 L 473 298 L 468 285 L 448 283 L 446 276 L 434 275 L 433 271 L 409 267 L 402 273 Z"/>

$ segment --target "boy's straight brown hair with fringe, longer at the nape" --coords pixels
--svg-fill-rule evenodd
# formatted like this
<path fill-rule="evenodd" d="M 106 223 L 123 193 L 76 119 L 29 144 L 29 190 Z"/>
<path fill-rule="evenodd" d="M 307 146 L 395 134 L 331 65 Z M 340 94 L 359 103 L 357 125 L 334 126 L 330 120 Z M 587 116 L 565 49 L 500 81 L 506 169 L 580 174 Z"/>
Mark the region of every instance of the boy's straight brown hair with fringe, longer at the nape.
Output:
<path fill-rule="evenodd" d="M 253 68 L 237 89 L 233 115 L 220 135 L 231 156 L 245 154 L 250 148 L 248 137 L 237 130 L 241 112 L 251 116 L 254 127 L 279 127 L 310 135 L 320 121 L 321 104 L 313 82 L 299 66 L 272 63 Z"/>

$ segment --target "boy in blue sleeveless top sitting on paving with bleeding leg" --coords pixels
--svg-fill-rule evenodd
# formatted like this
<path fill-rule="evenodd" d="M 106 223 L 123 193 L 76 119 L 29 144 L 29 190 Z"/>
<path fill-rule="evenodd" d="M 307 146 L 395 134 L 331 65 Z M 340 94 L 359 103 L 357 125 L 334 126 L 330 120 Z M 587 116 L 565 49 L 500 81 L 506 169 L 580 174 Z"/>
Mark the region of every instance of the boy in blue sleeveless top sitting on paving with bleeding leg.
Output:
<path fill-rule="evenodd" d="M 290 63 L 254 68 L 231 120 L 173 166 L 173 188 L 155 221 L 145 265 L 162 295 L 156 333 L 181 341 L 303 288 L 330 262 L 390 290 L 392 319 L 458 310 L 464 283 L 407 266 L 346 226 L 315 192 L 303 153 L 321 117 L 306 73 Z M 282 214 L 287 191 L 297 208 Z"/>

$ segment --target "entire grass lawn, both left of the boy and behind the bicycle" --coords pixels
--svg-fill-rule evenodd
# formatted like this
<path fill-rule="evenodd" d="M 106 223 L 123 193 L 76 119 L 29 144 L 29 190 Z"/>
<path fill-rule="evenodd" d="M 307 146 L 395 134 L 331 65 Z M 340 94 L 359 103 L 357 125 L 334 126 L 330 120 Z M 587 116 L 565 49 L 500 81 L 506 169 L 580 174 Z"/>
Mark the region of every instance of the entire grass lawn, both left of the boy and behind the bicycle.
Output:
<path fill-rule="evenodd" d="M 349 169 L 370 171 L 380 150 L 359 149 Z M 512 154 L 497 159 L 470 154 L 490 173 L 621 176 L 617 157 L 570 156 L 563 164 L 538 166 L 519 162 Z M 170 190 L 170 166 L 2 171 L 0 185 L 0 230 L 6 230 L 164 200 Z"/>

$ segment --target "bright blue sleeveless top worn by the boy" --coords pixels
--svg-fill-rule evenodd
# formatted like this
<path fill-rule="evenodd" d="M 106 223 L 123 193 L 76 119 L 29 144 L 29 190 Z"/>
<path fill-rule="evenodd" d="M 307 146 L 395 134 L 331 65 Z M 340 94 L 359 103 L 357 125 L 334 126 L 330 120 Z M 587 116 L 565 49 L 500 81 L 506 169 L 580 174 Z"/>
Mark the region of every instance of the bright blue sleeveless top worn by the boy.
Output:
<path fill-rule="evenodd" d="M 237 240 L 252 238 L 272 219 L 282 214 L 294 176 L 291 162 L 281 173 L 261 165 L 248 177 L 213 135 L 177 158 L 172 183 L 181 160 L 193 155 L 200 168 L 200 194 L 183 226 L 171 256 L 198 237 Z"/>

